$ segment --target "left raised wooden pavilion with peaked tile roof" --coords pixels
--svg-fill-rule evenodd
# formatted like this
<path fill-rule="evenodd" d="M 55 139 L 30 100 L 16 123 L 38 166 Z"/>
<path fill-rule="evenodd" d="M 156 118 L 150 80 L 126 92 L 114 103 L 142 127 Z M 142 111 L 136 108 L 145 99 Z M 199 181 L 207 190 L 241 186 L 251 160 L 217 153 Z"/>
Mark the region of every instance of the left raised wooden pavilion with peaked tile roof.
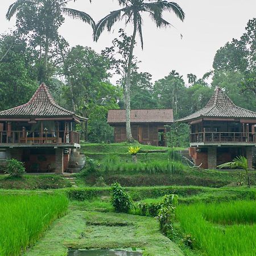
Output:
<path fill-rule="evenodd" d="M 27 172 L 62 173 L 72 148 L 80 148 L 76 123 L 86 121 L 61 108 L 41 84 L 26 104 L 0 112 L 0 165 L 15 158 Z"/>

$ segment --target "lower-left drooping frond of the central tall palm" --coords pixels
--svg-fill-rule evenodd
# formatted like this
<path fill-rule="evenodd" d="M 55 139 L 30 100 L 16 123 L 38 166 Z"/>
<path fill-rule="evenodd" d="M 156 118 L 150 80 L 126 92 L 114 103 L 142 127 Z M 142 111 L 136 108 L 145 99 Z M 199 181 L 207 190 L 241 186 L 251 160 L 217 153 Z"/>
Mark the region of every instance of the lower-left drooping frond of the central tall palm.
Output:
<path fill-rule="evenodd" d="M 97 23 L 93 33 L 94 41 L 97 42 L 98 38 L 100 37 L 101 33 L 104 31 L 105 27 L 108 29 L 108 31 L 111 30 L 114 23 L 120 19 L 122 11 L 125 11 L 125 8 L 112 11 L 110 14 L 106 15 Z"/>

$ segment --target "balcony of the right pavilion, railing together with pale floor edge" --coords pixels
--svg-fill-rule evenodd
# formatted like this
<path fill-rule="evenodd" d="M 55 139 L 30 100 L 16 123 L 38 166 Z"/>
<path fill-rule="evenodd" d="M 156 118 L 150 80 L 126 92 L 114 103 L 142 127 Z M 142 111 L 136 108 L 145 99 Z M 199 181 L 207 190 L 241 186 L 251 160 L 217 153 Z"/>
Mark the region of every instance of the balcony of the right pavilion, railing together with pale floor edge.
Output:
<path fill-rule="evenodd" d="M 191 146 L 217 144 L 217 145 L 241 145 L 256 144 L 254 133 L 230 133 L 230 132 L 203 132 L 190 135 Z"/>

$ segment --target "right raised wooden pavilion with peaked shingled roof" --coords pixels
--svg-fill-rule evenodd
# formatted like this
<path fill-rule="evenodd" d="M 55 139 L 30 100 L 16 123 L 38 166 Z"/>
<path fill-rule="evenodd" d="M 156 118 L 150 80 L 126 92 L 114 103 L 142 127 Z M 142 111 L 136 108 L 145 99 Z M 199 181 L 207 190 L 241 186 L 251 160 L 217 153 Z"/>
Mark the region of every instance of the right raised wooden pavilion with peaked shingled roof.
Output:
<path fill-rule="evenodd" d="M 203 109 L 176 122 L 191 127 L 189 154 L 197 166 L 212 169 L 243 155 L 252 168 L 256 112 L 234 105 L 221 88 Z"/>

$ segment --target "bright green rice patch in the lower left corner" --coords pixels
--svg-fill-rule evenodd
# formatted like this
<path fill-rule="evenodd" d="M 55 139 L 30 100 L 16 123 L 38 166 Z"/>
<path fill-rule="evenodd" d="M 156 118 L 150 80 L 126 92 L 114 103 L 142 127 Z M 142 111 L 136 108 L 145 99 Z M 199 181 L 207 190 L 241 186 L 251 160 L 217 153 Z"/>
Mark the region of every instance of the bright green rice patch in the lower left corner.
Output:
<path fill-rule="evenodd" d="M 64 195 L 1 195 L 0 255 L 20 255 L 68 207 Z"/>

